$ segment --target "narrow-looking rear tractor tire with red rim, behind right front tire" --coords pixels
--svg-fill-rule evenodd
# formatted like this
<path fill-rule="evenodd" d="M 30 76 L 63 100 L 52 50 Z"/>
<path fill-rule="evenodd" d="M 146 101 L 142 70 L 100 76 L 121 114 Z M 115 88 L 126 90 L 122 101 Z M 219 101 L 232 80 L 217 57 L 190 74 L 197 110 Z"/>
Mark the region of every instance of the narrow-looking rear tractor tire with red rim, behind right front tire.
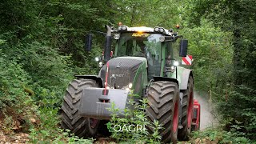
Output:
<path fill-rule="evenodd" d="M 190 76 L 187 89 L 183 90 L 182 98 L 182 129 L 178 130 L 179 140 L 188 140 L 191 134 L 191 123 L 193 118 L 193 78 Z"/>

